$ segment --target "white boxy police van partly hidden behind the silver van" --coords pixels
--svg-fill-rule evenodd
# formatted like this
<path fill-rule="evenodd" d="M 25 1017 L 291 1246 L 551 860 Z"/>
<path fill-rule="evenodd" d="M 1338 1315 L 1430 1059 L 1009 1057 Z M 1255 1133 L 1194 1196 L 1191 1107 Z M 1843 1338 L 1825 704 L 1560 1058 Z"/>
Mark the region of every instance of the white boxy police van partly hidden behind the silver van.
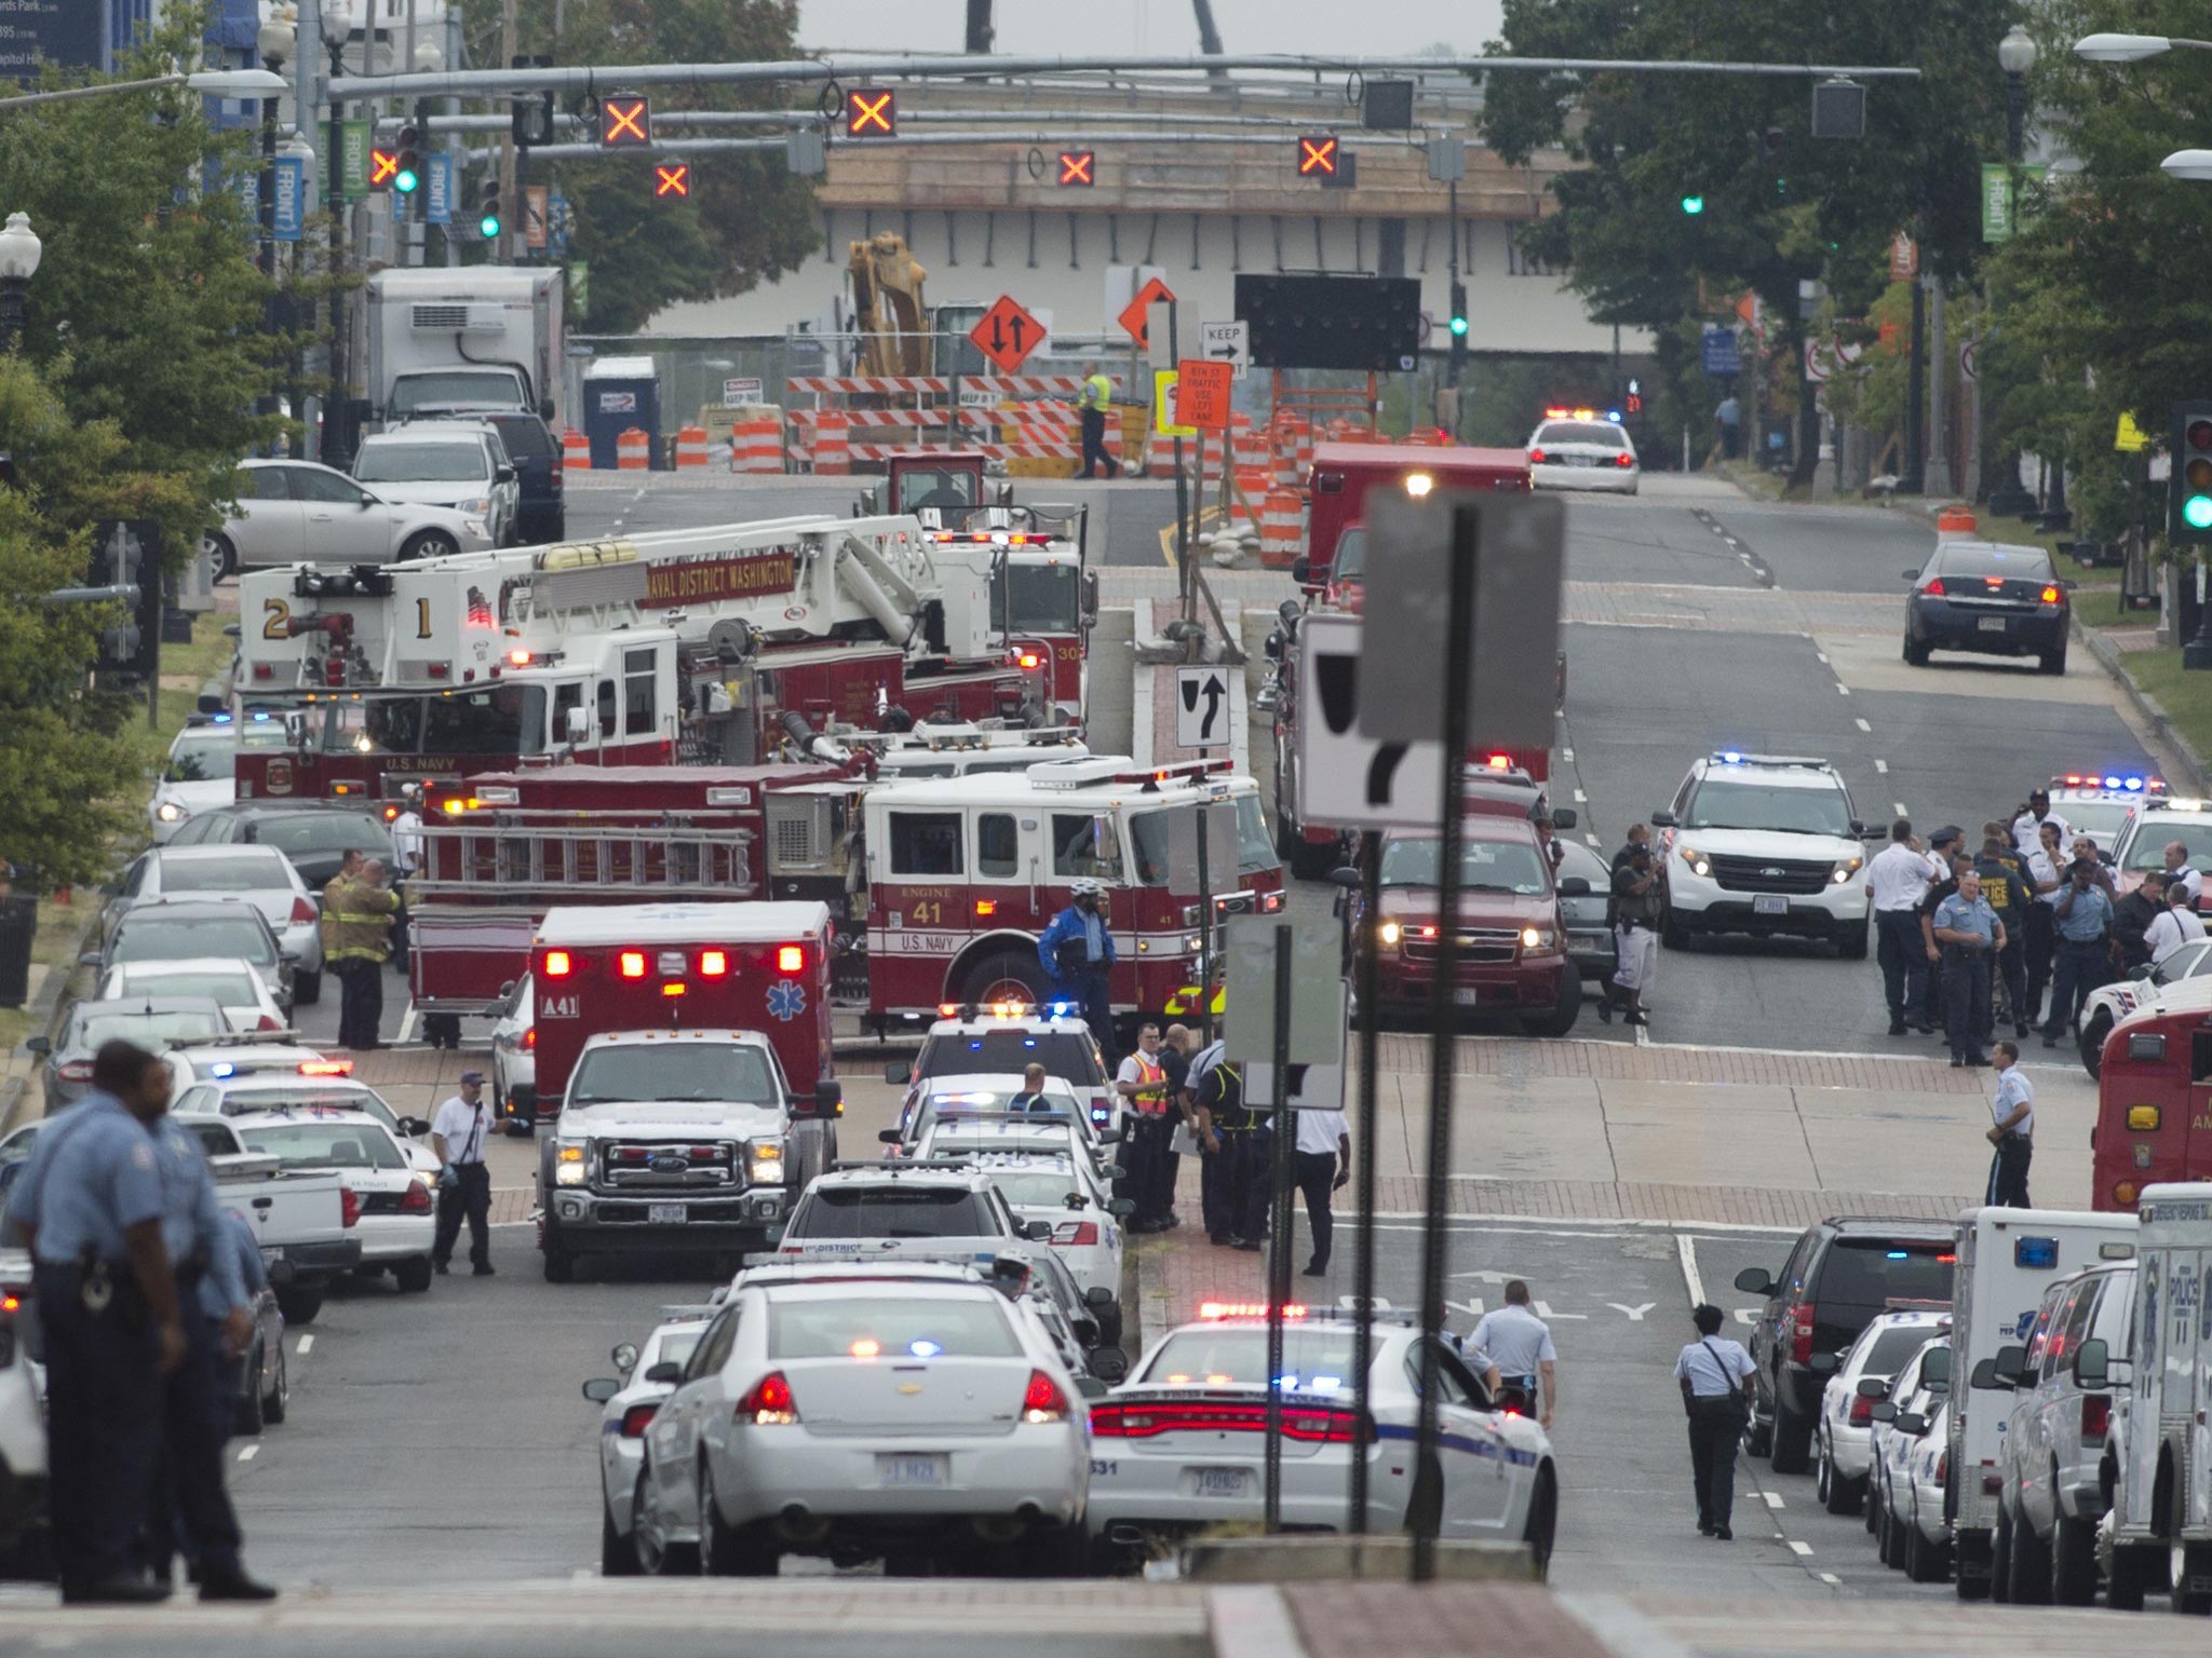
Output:
<path fill-rule="evenodd" d="M 1958 1218 L 1947 1448 L 1960 1601 L 1989 1598 L 1995 1578 L 2006 1419 L 2044 1291 L 2084 1267 L 2132 1253 L 2130 1214 L 1989 1207 Z"/>

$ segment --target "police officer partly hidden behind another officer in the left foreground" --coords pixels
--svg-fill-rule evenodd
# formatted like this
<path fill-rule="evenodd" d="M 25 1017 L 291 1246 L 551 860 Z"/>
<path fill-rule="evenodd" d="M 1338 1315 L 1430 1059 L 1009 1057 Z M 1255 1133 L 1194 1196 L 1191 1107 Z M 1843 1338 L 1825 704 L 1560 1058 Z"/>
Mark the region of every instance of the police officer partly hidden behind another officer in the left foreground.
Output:
<path fill-rule="evenodd" d="M 246 1576 L 239 1561 L 239 1517 L 223 1490 L 223 1421 L 237 1408 L 237 1391 L 217 1393 L 226 1353 L 243 1353 L 252 1340 L 246 1282 L 239 1278 L 230 1220 L 215 1200 L 215 1174 L 190 1130 L 168 1116 L 170 1077 L 159 1059 L 146 1059 L 139 1077 L 137 1116 L 155 1141 L 161 1169 L 161 1245 L 177 1278 L 177 1313 L 184 1322 L 186 1360 L 164 1377 L 161 1455 L 155 1459 L 148 1510 L 148 1565 L 155 1581 L 168 1578 L 175 1543 L 199 1576 L 201 1601 L 274 1601 L 276 1589 Z M 201 1291 L 212 1282 L 221 1322 L 210 1322 Z"/>

